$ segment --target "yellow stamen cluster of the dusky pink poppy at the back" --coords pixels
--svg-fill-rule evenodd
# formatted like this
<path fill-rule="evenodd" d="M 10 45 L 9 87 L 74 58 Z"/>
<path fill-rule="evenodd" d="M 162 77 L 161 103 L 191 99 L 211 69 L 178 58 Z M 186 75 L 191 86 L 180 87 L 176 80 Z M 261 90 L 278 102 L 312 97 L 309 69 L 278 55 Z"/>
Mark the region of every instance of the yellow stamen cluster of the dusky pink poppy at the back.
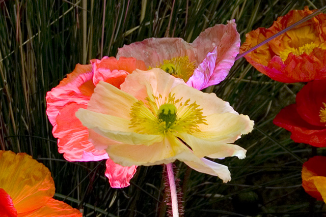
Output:
<path fill-rule="evenodd" d="M 173 57 L 170 60 L 165 59 L 163 64 L 156 67 L 176 78 L 183 79 L 184 82 L 189 80 L 196 69 L 195 61 L 191 63 L 188 56 Z"/>

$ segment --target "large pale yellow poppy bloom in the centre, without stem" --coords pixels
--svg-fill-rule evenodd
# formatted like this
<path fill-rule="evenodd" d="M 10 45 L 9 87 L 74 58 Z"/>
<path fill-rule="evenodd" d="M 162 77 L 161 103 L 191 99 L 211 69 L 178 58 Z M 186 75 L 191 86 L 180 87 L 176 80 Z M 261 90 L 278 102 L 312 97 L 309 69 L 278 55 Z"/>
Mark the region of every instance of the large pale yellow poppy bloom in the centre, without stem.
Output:
<path fill-rule="evenodd" d="M 231 179 L 226 166 L 203 157 L 244 158 L 246 150 L 232 143 L 252 131 L 248 116 L 158 68 L 135 70 L 120 87 L 100 81 L 87 109 L 76 112 L 97 149 L 122 166 L 180 160 L 224 182 Z"/>

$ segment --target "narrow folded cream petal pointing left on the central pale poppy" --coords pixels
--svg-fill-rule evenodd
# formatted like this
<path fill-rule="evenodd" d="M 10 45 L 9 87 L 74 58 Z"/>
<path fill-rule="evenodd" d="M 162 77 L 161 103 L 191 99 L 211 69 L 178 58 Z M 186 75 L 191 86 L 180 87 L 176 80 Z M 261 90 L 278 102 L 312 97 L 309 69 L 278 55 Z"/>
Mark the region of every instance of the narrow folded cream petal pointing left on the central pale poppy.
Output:
<path fill-rule="evenodd" d="M 86 109 L 79 109 L 76 117 L 83 125 L 96 133 L 112 140 L 130 145 L 151 145 L 162 140 L 162 135 L 147 135 L 134 133 L 129 128 L 129 120 L 101 114 Z"/>

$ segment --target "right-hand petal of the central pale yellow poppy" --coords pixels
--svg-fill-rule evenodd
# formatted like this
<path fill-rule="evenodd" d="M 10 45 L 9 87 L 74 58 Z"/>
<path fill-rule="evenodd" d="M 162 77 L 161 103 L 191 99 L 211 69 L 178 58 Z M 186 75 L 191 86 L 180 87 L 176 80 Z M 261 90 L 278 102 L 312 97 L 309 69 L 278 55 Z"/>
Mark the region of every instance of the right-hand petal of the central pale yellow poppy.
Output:
<path fill-rule="evenodd" d="M 254 121 L 243 114 L 215 113 L 206 117 L 206 123 L 199 125 L 200 132 L 193 135 L 208 141 L 233 143 L 254 129 Z"/>

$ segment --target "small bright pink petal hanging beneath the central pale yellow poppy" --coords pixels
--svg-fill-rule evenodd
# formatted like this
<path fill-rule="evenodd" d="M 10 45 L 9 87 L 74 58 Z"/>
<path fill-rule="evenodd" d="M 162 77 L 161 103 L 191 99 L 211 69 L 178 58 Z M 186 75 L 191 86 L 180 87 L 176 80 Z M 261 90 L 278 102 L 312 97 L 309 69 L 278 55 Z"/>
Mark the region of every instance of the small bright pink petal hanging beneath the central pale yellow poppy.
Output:
<path fill-rule="evenodd" d="M 105 176 L 112 188 L 124 188 L 130 185 L 129 181 L 135 174 L 136 168 L 137 166 L 123 167 L 107 159 Z"/>

